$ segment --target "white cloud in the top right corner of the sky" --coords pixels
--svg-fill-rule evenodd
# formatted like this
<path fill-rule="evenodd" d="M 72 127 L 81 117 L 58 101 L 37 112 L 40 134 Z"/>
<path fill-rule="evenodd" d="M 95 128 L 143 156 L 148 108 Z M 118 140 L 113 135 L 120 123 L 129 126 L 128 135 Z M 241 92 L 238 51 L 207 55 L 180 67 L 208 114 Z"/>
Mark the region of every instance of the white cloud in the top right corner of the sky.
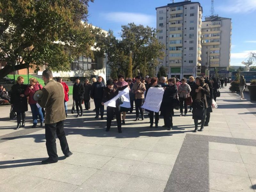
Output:
<path fill-rule="evenodd" d="M 249 13 L 256 11 L 256 1 L 255 0 L 229 0 L 228 4 L 222 5 L 217 8 L 223 12 L 232 13 Z"/>

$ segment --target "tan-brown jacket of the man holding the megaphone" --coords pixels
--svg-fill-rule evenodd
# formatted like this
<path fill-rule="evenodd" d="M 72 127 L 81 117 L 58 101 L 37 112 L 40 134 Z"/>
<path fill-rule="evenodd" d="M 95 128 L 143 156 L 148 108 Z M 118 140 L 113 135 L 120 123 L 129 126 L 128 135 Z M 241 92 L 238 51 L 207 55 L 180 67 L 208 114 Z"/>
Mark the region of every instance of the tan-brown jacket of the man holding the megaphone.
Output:
<path fill-rule="evenodd" d="M 43 95 L 38 104 L 45 108 L 45 124 L 58 123 L 66 119 L 64 108 L 64 89 L 62 84 L 48 81 L 42 89 Z"/>

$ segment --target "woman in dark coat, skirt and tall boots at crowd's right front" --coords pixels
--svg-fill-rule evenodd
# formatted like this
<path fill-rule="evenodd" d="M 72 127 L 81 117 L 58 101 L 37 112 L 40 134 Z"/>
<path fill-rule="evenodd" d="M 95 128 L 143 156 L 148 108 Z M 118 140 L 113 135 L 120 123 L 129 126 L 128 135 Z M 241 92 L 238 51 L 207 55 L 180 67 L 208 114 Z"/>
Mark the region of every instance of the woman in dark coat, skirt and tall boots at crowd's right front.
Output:
<path fill-rule="evenodd" d="M 206 112 L 208 108 L 207 97 L 209 97 L 210 95 L 208 84 L 204 83 L 203 77 L 196 77 L 196 84 L 192 87 L 190 95 L 193 100 L 192 117 L 195 123 L 194 132 L 197 132 L 198 120 L 201 120 L 201 129 L 199 131 L 203 131 Z"/>

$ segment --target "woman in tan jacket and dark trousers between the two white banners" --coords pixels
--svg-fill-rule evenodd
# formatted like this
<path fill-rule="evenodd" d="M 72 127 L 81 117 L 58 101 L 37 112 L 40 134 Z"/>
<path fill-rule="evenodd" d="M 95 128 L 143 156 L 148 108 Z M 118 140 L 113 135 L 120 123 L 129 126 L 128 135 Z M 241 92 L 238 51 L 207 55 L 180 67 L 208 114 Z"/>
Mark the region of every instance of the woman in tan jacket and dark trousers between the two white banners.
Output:
<path fill-rule="evenodd" d="M 143 109 L 141 106 L 144 102 L 144 92 L 146 91 L 145 84 L 140 82 L 141 77 L 136 76 L 136 83 L 133 84 L 132 92 L 135 93 L 135 110 L 136 110 L 136 119 L 134 121 L 139 120 L 139 110 L 141 114 L 141 120 L 144 120 Z"/>

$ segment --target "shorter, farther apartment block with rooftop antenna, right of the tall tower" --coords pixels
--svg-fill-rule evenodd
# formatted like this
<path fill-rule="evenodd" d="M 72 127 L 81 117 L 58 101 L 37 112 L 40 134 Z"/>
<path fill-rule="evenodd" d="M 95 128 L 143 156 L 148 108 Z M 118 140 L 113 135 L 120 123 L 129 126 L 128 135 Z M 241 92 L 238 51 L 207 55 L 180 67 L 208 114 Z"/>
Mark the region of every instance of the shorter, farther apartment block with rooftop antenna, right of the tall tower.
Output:
<path fill-rule="evenodd" d="M 230 18 L 205 17 L 202 23 L 202 74 L 228 77 L 232 23 Z M 208 69 L 208 70 L 207 70 Z"/>

